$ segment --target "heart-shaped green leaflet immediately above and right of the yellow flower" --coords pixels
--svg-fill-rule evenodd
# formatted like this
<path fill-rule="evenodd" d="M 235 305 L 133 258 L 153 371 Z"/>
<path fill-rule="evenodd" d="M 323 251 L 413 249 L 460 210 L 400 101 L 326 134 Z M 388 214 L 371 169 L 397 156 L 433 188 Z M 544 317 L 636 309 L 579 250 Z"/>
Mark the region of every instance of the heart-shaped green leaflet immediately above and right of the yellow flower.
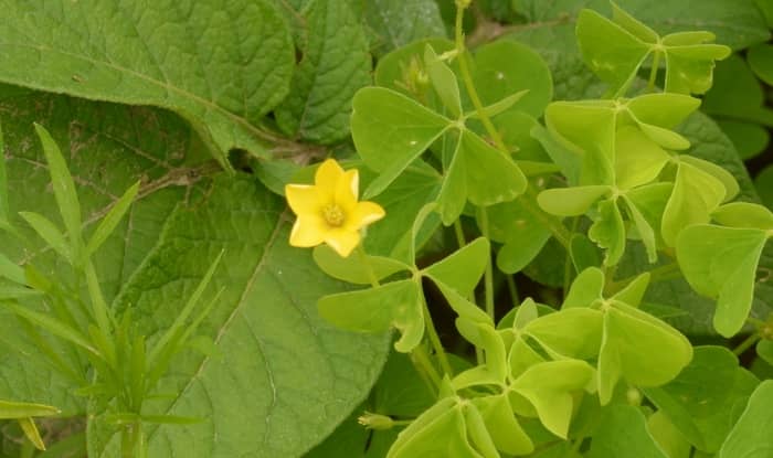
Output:
<path fill-rule="evenodd" d="M 363 199 L 383 191 L 440 138 L 449 123 L 394 90 L 360 89 L 353 100 L 352 138 L 366 164 L 382 172 L 366 190 Z"/>

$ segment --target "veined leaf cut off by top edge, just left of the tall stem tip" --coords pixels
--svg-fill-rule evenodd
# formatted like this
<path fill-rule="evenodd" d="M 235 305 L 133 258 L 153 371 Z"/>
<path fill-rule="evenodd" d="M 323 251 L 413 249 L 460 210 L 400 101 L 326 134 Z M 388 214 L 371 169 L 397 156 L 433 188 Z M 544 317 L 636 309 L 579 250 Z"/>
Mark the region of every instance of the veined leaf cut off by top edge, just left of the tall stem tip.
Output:
<path fill-rule="evenodd" d="M 415 40 L 446 35 L 437 3 L 432 0 L 407 3 L 400 0 L 368 1 L 363 4 L 363 15 L 378 35 L 371 40 L 371 51 L 377 56 L 402 49 Z"/>

